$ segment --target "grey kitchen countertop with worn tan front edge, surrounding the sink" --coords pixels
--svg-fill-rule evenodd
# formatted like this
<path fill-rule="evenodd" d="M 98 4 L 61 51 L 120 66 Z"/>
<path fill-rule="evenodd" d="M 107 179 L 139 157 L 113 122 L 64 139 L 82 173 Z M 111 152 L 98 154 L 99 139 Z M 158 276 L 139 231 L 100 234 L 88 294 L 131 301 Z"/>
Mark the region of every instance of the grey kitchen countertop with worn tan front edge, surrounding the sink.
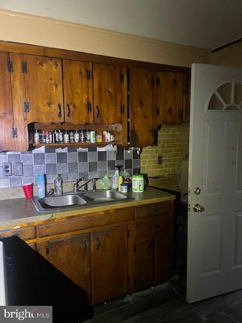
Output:
<path fill-rule="evenodd" d="M 174 200 L 175 196 L 151 187 L 146 187 L 142 193 L 134 193 L 129 191 L 127 193 L 132 200 L 117 201 L 112 203 L 102 203 L 98 205 L 80 206 L 75 209 L 64 211 L 53 211 L 40 213 L 36 210 L 31 199 L 14 198 L 0 201 L 0 232 L 1 230 L 13 229 L 21 224 L 40 222 L 49 219 L 65 218 L 76 216 L 78 214 L 86 214 L 97 211 L 105 211 L 107 209 L 116 209 L 129 206 L 137 206 L 142 204 L 156 203 Z"/>

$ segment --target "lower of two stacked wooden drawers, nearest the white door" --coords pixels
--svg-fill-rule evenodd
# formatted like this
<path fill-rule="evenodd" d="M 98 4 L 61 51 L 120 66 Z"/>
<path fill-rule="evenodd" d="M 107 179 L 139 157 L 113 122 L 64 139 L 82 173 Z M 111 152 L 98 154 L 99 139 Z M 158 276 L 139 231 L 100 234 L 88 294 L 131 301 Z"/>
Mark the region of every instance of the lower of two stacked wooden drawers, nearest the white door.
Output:
<path fill-rule="evenodd" d="M 136 236 L 142 237 L 152 233 L 168 231 L 172 228 L 171 214 L 136 220 Z"/>

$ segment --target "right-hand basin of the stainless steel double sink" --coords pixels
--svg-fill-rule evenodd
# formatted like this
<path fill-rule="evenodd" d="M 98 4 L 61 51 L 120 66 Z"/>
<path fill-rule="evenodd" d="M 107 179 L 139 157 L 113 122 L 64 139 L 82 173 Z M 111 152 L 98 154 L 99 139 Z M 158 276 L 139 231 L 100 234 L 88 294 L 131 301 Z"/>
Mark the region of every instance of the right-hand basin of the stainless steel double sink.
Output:
<path fill-rule="evenodd" d="M 87 199 L 89 203 L 106 203 L 130 199 L 127 195 L 113 190 L 84 192 L 81 193 L 79 196 L 82 196 L 85 199 Z"/>

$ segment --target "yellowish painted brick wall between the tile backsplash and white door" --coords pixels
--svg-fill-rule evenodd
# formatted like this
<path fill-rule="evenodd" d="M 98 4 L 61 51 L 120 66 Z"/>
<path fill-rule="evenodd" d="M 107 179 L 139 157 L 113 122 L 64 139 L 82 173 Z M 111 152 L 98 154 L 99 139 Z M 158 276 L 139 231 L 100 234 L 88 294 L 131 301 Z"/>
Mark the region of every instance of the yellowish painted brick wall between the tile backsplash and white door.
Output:
<path fill-rule="evenodd" d="M 178 170 L 181 160 L 189 152 L 189 124 L 162 125 L 158 132 L 158 146 L 145 147 L 141 153 L 141 173 L 161 176 L 149 179 L 150 185 L 177 190 Z M 157 165 L 157 153 L 162 153 L 163 163 Z"/>

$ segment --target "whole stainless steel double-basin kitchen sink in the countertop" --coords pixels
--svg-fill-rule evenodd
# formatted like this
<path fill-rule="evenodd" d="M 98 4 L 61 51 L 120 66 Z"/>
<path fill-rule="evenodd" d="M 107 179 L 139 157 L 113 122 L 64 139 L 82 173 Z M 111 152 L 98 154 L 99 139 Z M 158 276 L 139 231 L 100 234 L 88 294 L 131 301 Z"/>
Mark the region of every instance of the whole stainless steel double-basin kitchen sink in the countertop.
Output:
<path fill-rule="evenodd" d="M 91 206 L 99 203 L 128 201 L 133 198 L 114 190 L 96 190 L 87 192 L 70 192 L 64 195 L 51 195 L 43 198 L 33 197 L 32 201 L 39 212 L 66 210 L 80 206 Z"/>

